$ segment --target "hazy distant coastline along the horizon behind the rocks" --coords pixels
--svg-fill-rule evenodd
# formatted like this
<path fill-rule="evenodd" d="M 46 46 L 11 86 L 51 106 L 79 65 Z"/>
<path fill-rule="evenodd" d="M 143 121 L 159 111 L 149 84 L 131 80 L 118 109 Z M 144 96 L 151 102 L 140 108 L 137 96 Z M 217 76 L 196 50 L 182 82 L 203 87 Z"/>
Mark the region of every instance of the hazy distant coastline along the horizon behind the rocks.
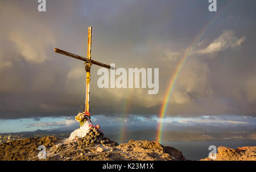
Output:
<path fill-rule="evenodd" d="M 36 130 L 32 132 L 17 132 L 17 133 L 0 133 L 0 143 L 13 140 L 24 139 L 27 137 L 55 136 L 61 139 L 68 138 L 72 131 L 61 130 Z M 116 140 L 119 144 L 134 140 L 150 140 L 154 141 L 155 130 L 138 130 L 127 131 L 124 140 L 119 140 L 120 133 L 108 133 L 106 136 L 112 140 Z M 209 131 L 167 131 L 163 132 L 164 141 L 228 141 L 228 140 L 256 140 L 255 131 L 247 132 L 209 132 Z"/>

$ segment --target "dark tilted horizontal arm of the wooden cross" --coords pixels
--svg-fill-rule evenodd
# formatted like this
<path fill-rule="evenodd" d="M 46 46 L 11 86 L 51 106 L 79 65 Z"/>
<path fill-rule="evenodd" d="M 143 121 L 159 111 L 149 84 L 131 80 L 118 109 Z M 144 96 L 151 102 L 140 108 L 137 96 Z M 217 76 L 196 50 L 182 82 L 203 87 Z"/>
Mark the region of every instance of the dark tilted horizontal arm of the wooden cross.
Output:
<path fill-rule="evenodd" d="M 113 68 L 113 67 L 110 66 L 110 65 L 102 64 L 101 62 L 98 62 L 98 61 L 95 61 L 95 60 L 89 60 L 89 59 L 86 58 L 86 57 L 78 56 L 78 55 L 76 55 L 76 54 L 72 54 L 72 53 L 63 51 L 63 50 L 58 49 L 58 48 L 55 48 L 55 52 L 56 52 L 56 53 L 63 54 L 63 55 L 65 55 L 65 56 L 73 57 L 73 58 L 76 58 L 76 59 L 78 59 L 78 60 L 82 60 L 82 61 L 85 61 L 85 62 L 87 62 L 87 61 L 89 62 L 89 61 L 90 61 L 92 64 L 98 65 L 98 66 L 101 66 L 101 67 L 104 67 L 104 68 L 108 68 L 108 69 L 112 69 L 112 70 L 115 69 L 115 68 Z"/>

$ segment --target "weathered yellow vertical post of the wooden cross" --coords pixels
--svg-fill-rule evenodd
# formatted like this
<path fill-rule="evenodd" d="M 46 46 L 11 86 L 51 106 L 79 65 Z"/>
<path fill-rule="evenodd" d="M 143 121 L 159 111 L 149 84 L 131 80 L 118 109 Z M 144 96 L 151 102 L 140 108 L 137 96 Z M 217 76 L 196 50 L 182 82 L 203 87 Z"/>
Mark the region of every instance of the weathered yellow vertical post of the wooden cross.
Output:
<path fill-rule="evenodd" d="M 86 95 L 85 95 L 85 112 L 89 112 L 89 95 L 90 95 L 90 62 L 92 51 L 92 27 L 88 28 L 88 45 L 87 45 L 87 58 L 89 61 L 85 62 L 85 71 L 86 71 Z"/>

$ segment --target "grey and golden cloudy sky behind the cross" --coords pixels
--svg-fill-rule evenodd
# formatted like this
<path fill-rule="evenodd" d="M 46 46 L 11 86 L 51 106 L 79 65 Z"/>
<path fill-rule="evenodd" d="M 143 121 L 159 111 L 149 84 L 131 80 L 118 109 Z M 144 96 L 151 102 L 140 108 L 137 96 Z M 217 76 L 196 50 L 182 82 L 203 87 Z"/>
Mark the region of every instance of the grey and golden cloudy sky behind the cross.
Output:
<path fill-rule="evenodd" d="M 168 83 L 191 46 L 166 117 L 214 116 L 216 124 L 217 116 L 255 119 L 255 1 L 217 1 L 217 12 L 208 11 L 207 0 L 54 0 L 46 1 L 46 12 L 38 5 L 0 2 L 0 132 L 17 131 L 10 126 L 18 124 L 23 130 L 74 124 L 71 117 L 84 106 L 84 65 L 54 48 L 86 56 L 89 26 L 93 60 L 159 68 L 159 93 L 148 95 L 148 89 L 99 89 L 100 68 L 93 65 L 90 108 L 101 123 L 129 115 L 157 121 Z"/>

